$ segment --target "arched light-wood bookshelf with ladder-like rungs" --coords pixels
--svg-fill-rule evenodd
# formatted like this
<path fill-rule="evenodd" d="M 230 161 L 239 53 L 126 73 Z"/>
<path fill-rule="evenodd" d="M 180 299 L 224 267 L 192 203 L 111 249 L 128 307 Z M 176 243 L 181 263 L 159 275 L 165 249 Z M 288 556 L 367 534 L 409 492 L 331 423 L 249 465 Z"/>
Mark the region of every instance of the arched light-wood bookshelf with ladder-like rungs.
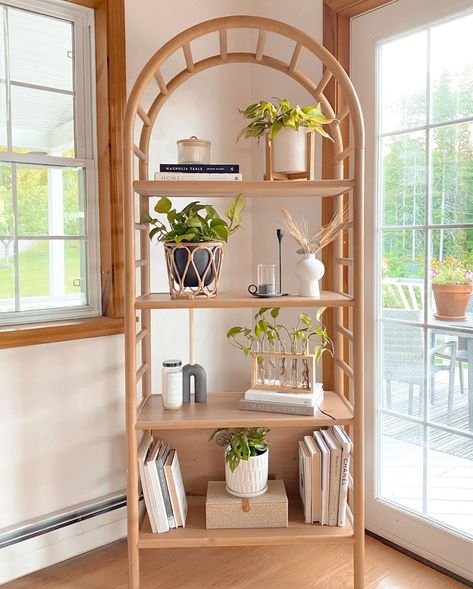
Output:
<path fill-rule="evenodd" d="M 256 46 L 248 52 L 228 50 L 228 32 L 232 29 L 256 29 Z M 194 62 L 192 43 L 209 34 L 218 34 L 219 52 Z M 267 37 L 282 35 L 294 43 L 287 61 L 271 57 L 266 52 Z M 182 52 L 185 68 L 170 80 L 162 74 L 163 64 L 175 53 Z M 299 67 L 303 52 L 313 54 L 324 67 L 316 82 Z M 165 182 L 149 180 L 150 137 L 157 116 L 166 100 L 189 78 L 215 66 L 232 63 L 258 64 L 283 72 L 304 87 L 321 102 L 324 112 L 336 120 L 330 126 L 333 138 L 334 169 L 332 177 L 306 181 L 243 181 L 243 182 Z M 338 102 L 343 104 L 334 112 L 324 94 L 329 82 L 335 84 Z M 149 108 L 144 108 L 144 94 L 154 85 L 156 97 Z M 147 94 L 148 95 L 148 94 Z M 341 98 L 341 100 L 340 100 Z M 342 125 L 349 125 L 349 133 L 342 133 Z M 345 137 L 349 140 L 345 140 Z M 138 143 L 135 141 L 139 137 Z M 128 553 L 129 586 L 139 589 L 139 552 L 144 548 L 282 545 L 308 543 L 349 542 L 354 546 L 354 587 L 364 586 L 364 489 L 363 489 L 363 118 L 355 90 L 342 66 L 319 43 L 304 32 L 275 20 L 254 16 L 228 16 L 197 24 L 183 31 L 161 47 L 147 62 L 130 94 L 124 122 L 124 219 L 125 219 L 125 329 L 126 329 L 126 412 L 128 439 Z M 138 163 L 138 174 L 135 168 Z M 348 170 L 350 172 L 348 172 Z M 350 175 L 348 175 L 350 174 Z M 334 392 L 326 395 L 326 408 L 336 417 L 336 423 L 350 428 L 354 441 L 354 460 L 351 477 L 349 524 L 346 528 L 303 524 L 298 516 L 289 528 L 273 530 L 206 530 L 202 506 L 190 506 L 190 526 L 166 534 L 152 534 L 139 512 L 139 482 L 137 467 L 137 436 L 142 430 L 164 431 L 166 439 L 180 443 L 180 458 L 185 463 L 184 448 L 196 461 L 192 446 L 205 443 L 205 430 L 219 426 L 268 425 L 279 432 L 280 439 L 289 444 L 301 431 L 333 424 L 319 416 L 281 416 L 270 413 L 239 412 L 234 394 L 212 394 L 205 406 L 185 407 L 182 411 L 164 414 L 157 395 L 151 387 L 151 312 L 166 308 L 231 308 L 257 307 L 257 299 L 243 293 L 222 293 L 207 300 L 171 300 L 169 295 L 150 292 L 150 248 L 147 226 L 136 218 L 148 211 L 149 197 L 168 196 L 234 196 L 243 192 L 247 197 L 264 198 L 284 195 L 327 197 L 335 206 L 349 202 L 351 226 L 335 242 L 333 259 L 328 266 L 333 291 L 323 292 L 321 299 L 285 297 L 276 299 L 281 307 L 329 306 L 334 308 L 332 335 L 336 358 L 333 363 Z M 135 200 L 137 197 L 138 200 Z M 136 249 L 135 249 L 136 248 Z M 136 259 L 135 252 L 139 251 Z M 137 281 L 139 272 L 140 280 Z M 137 290 L 138 288 L 138 290 Z M 141 364 L 137 365 L 140 349 Z M 138 394 L 138 384 L 141 385 Z M 204 430 L 202 434 L 202 430 Z M 172 438 L 173 432 L 179 436 Z M 294 432 L 296 432 L 294 434 Z M 200 436 L 200 438 L 199 438 Z M 286 439 L 287 438 L 287 439 Z M 294 445 L 296 438 L 294 438 Z M 183 446 L 184 444 L 184 446 Z M 187 446 L 185 446 L 187 444 Z M 273 448 L 277 448 L 277 441 Z M 182 450 L 182 451 L 181 451 Z M 295 451 L 297 451 L 295 449 Z M 204 452 L 205 455 L 205 452 Z M 281 452 L 272 451 L 271 460 L 276 470 L 292 467 L 291 460 Z M 192 467 L 183 467 L 186 487 L 194 485 Z M 184 464 L 185 466 L 185 464 Z M 297 466 L 296 466 L 297 468 Z M 198 465 L 199 476 L 215 471 L 211 458 Z M 293 477 L 290 472 L 290 477 Z M 286 481 L 287 482 L 287 481 Z M 290 486 L 290 482 L 287 482 Z M 195 483 L 198 486 L 197 483 Z M 194 513 L 195 512 L 195 513 Z"/>

